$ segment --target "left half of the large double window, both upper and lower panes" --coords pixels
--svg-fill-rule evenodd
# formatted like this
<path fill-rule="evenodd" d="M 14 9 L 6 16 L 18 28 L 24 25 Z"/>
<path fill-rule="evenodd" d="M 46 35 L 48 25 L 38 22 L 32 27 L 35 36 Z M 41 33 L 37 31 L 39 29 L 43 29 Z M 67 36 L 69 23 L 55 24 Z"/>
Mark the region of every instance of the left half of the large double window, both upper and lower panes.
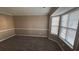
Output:
<path fill-rule="evenodd" d="M 68 22 L 68 14 L 65 14 L 61 17 L 61 24 L 60 24 L 60 33 L 59 36 L 64 40 L 66 37 L 67 31 L 67 22 Z"/>

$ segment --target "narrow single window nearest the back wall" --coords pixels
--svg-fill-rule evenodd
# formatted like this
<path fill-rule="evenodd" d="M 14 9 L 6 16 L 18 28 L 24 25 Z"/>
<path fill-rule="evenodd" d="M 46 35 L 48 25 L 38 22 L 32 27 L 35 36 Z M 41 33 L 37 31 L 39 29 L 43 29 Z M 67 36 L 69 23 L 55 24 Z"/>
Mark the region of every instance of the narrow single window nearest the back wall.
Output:
<path fill-rule="evenodd" d="M 52 17 L 51 34 L 58 34 L 59 17 Z"/>

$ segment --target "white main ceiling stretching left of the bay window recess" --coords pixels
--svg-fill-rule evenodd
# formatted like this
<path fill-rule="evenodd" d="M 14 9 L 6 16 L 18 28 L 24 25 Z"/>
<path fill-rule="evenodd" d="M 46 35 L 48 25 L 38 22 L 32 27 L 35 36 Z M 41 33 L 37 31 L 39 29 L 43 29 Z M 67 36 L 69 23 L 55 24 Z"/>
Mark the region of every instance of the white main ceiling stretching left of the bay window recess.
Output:
<path fill-rule="evenodd" d="M 0 7 L 1 14 L 8 15 L 47 15 L 50 7 Z"/>

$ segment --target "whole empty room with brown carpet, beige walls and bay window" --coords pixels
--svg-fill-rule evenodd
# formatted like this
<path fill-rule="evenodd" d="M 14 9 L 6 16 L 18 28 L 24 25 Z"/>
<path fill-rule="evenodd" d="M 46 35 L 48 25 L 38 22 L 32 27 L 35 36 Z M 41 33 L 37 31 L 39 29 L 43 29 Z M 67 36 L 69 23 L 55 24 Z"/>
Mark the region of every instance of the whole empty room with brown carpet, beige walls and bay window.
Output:
<path fill-rule="evenodd" d="M 78 7 L 0 7 L 0 51 L 78 50 Z"/>

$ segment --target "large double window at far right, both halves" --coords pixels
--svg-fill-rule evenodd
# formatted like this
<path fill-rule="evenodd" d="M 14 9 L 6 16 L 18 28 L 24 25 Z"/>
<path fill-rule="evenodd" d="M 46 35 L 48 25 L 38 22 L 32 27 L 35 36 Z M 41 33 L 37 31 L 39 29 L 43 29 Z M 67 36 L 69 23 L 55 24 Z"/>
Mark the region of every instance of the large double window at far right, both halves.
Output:
<path fill-rule="evenodd" d="M 79 21 L 79 10 L 61 16 L 59 37 L 73 48 Z"/>

